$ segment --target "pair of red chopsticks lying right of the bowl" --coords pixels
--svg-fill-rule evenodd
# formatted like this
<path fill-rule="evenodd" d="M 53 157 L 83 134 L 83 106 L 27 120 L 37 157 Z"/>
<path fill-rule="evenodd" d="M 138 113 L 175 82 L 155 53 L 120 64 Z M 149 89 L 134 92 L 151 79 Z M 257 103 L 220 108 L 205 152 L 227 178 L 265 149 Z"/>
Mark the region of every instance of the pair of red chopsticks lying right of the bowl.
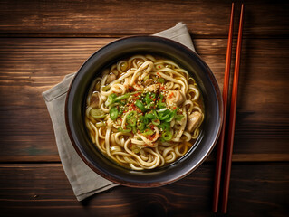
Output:
<path fill-rule="evenodd" d="M 230 184 L 231 175 L 231 165 L 232 165 L 232 153 L 233 153 L 233 143 L 234 143 L 234 133 L 235 133 L 235 121 L 236 121 L 236 99 L 237 99 L 237 85 L 239 79 L 239 68 L 240 68 L 240 56 L 241 56 L 241 44 L 242 44 L 242 29 L 243 29 L 243 14 L 244 5 L 241 6 L 238 39 L 236 45 L 236 61 L 234 70 L 234 80 L 231 96 L 231 106 L 230 106 L 230 117 L 227 135 L 227 146 L 226 146 L 226 165 L 225 165 L 225 175 L 223 184 L 223 199 L 221 204 L 221 212 L 226 213 L 227 210 L 227 200 L 228 191 Z M 221 129 L 221 134 L 217 143 L 217 165 L 216 165 L 216 175 L 215 175 L 215 188 L 214 188 L 214 198 L 213 198 L 213 212 L 217 212 L 219 197 L 220 197 L 220 183 L 221 183 L 221 172 L 222 172 L 222 160 L 224 152 L 224 140 L 226 131 L 226 105 L 228 98 L 228 86 L 230 77 L 230 67 L 231 67 L 231 53 L 232 53 L 232 41 L 233 41 L 233 20 L 234 20 L 234 3 L 232 3 L 230 27 L 228 34 L 228 42 L 226 49 L 226 68 L 224 76 L 224 86 L 223 86 L 223 105 L 224 105 L 224 120 Z"/>

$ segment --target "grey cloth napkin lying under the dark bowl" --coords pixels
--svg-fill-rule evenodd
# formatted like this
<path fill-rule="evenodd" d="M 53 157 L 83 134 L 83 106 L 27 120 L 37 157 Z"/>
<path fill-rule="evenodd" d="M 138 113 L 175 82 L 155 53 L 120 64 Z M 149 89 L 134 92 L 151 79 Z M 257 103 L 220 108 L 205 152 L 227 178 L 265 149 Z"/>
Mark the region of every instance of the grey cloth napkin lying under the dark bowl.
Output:
<path fill-rule="evenodd" d="M 154 35 L 180 42 L 195 52 L 186 24 L 178 23 L 174 27 Z M 81 157 L 74 150 L 67 134 L 64 105 L 66 93 L 74 74 L 65 76 L 59 84 L 43 92 L 43 98 L 53 122 L 56 144 L 64 172 L 72 185 L 77 200 L 82 201 L 94 193 L 103 192 L 118 184 L 111 183 L 102 178 L 100 175 L 94 173 L 88 165 L 85 165 Z"/>

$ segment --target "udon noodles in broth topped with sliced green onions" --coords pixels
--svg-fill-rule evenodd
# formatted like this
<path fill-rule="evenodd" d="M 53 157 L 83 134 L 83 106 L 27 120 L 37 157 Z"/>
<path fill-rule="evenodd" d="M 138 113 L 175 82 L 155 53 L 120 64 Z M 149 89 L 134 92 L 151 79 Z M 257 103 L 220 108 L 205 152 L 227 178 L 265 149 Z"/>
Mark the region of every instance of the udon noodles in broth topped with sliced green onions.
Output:
<path fill-rule="evenodd" d="M 133 170 L 169 165 L 193 146 L 204 119 L 196 81 L 174 61 L 134 55 L 113 64 L 89 90 L 92 143 Z"/>

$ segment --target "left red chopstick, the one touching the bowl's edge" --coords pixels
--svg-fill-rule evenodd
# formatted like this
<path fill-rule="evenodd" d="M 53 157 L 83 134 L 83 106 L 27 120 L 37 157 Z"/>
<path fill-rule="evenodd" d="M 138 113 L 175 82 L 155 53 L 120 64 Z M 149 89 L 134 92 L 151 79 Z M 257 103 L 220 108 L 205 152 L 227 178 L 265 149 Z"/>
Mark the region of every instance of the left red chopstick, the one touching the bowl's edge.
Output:
<path fill-rule="evenodd" d="M 230 27 L 228 33 L 227 47 L 226 47 L 226 67 L 223 85 L 223 107 L 224 107 L 224 118 L 221 134 L 217 143 L 217 164 L 216 164 L 216 175 L 215 175 L 215 188 L 214 188 L 214 199 L 213 199 L 213 212 L 217 212 L 219 193 L 220 193 L 220 182 L 222 172 L 222 159 L 224 151 L 224 138 L 226 131 L 226 104 L 227 104 L 227 92 L 229 87 L 230 68 L 231 68 L 231 53 L 232 53 L 232 39 L 233 39 L 233 20 L 234 20 L 234 3 L 232 3 Z"/>

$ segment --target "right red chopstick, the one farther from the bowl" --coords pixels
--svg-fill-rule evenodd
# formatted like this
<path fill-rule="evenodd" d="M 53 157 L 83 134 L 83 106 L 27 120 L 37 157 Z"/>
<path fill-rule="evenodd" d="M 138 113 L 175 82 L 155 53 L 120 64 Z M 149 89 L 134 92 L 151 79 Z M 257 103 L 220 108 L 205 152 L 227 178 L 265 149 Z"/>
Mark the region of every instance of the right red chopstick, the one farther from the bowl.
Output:
<path fill-rule="evenodd" d="M 230 176 L 231 176 L 232 153 L 233 153 L 235 121 L 236 121 L 237 86 L 238 86 L 238 80 L 239 80 L 239 68 L 240 68 L 240 57 L 241 57 L 241 46 L 242 46 L 243 14 L 244 14 L 244 5 L 242 4 L 238 39 L 237 39 L 237 44 L 236 44 L 236 61 L 235 61 L 234 80 L 233 80 L 233 89 L 232 89 L 232 97 L 231 97 L 228 140 L 227 140 L 225 179 L 224 179 L 223 201 L 222 201 L 222 209 L 221 209 L 221 212 L 223 213 L 226 213 L 226 210 L 227 210 L 227 199 L 228 199 Z"/>

